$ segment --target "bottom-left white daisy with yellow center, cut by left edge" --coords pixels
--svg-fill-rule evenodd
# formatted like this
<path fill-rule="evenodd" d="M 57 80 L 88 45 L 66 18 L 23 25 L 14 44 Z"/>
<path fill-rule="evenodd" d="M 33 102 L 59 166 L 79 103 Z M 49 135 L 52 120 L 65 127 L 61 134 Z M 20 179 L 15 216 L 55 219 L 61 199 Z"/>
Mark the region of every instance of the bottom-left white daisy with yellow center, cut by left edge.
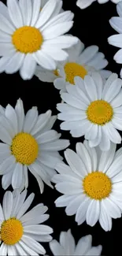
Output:
<path fill-rule="evenodd" d="M 53 229 L 42 224 L 49 218 L 48 208 L 39 203 L 27 212 L 34 194 L 26 198 L 27 191 L 6 191 L 0 205 L 0 255 L 39 255 L 46 250 L 39 242 L 50 242 Z M 25 200 L 26 198 L 26 200 Z M 38 241 L 38 242 L 37 242 Z"/>

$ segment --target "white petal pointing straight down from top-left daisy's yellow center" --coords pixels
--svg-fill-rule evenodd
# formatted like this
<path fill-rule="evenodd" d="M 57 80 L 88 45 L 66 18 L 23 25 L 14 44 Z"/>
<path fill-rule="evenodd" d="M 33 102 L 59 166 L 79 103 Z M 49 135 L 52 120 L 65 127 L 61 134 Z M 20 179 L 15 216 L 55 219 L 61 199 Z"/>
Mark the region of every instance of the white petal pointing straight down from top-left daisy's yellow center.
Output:
<path fill-rule="evenodd" d="M 23 78 L 23 80 L 31 80 L 32 76 L 35 74 L 35 69 L 35 59 L 32 57 L 32 54 L 26 54 L 23 65 L 20 69 L 20 76 Z"/>

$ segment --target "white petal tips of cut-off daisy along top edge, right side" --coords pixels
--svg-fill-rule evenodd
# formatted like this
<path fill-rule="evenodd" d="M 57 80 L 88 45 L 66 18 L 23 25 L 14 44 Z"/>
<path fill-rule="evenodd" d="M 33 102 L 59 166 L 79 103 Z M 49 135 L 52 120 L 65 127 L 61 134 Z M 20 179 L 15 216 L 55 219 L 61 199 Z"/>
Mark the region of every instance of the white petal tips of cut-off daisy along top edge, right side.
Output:
<path fill-rule="evenodd" d="M 76 5 L 79 6 L 80 9 L 85 9 L 88 6 L 91 6 L 92 2 L 97 1 L 97 0 L 77 0 Z M 105 2 L 108 2 L 109 0 L 98 0 L 99 4 L 104 4 Z M 111 0 L 115 4 L 117 2 L 120 2 L 121 0 Z"/>

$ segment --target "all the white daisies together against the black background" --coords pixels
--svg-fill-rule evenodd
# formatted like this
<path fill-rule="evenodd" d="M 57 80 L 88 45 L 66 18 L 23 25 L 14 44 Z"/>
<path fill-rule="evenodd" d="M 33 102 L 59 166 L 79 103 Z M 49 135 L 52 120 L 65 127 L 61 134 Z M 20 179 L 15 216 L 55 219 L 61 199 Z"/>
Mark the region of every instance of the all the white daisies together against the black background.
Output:
<path fill-rule="evenodd" d="M 84 9 L 94 1 L 76 4 Z M 122 63 L 122 2 L 113 2 L 119 2 L 119 17 L 109 23 L 120 35 L 108 41 L 120 48 L 114 59 Z M 92 247 L 91 235 L 76 244 L 70 229 L 61 232 L 59 243 L 52 239 L 53 229 L 42 224 L 49 218 L 48 208 L 39 203 L 28 211 L 35 196 L 27 196 L 28 171 L 40 193 L 44 184 L 55 184 L 62 194 L 55 205 L 65 207 L 68 216 L 75 215 L 77 224 L 86 221 L 93 227 L 99 221 L 107 232 L 112 219 L 122 214 L 122 147 L 116 150 L 122 140 L 122 80 L 105 69 L 108 61 L 98 46 L 85 48 L 66 34 L 73 17 L 61 0 L 8 0 L 7 6 L 0 2 L 0 72 L 19 71 L 23 80 L 35 75 L 54 83 L 61 95 L 57 116 L 50 109 L 39 113 L 36 106 L 24 113 L 20 98 L 15 108 L 0 106 L 0 175 L 4 190 L 13 187 L 0 204 L 0 255 L 46 254 L 40 242 L 49 243 L 54 255 L 102 253 L 101 245 Z M 57 119 L 72 137 L 84 136 L 83 143 L 76 143 L 76 152 L 54 130 Z"/>

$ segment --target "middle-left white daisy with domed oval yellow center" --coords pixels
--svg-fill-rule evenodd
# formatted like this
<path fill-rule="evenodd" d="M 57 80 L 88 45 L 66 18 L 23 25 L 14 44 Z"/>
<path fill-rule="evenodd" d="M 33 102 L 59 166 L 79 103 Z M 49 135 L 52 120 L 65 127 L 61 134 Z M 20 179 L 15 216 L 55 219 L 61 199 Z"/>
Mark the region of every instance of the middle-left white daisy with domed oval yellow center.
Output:
<path fill-rule="evenodd" d="M 55 165 L 61 162 L 59 150 L 69 145 L 67 139 L 51 129 L 56 117 L 51 111 L 40 114 L 32 107 L 24 115 L 23 102 L 19 99 L 15 109 L 1 106 L 0 112 L 0 175 L 2 187 L 12 184 L 13 189 L 28 187 L 28 169 L 39 183 L 43 193 L 43 181 L 50 187 Z"/>

